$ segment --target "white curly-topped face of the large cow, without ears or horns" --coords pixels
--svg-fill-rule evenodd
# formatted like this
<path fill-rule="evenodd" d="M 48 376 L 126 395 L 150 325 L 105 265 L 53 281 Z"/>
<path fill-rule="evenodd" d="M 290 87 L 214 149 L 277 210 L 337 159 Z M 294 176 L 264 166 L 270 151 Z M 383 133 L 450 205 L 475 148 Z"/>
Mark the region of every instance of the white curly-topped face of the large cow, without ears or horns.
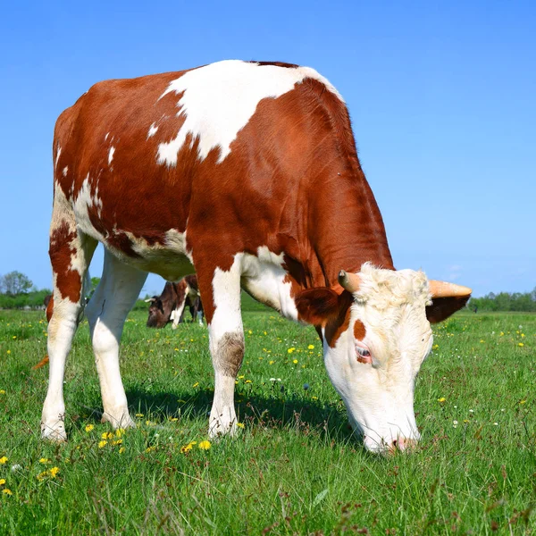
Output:
<path fill-rule="evenodd" d="M 366 266 L 360 276 L 348 329 L 332 348 L 324 337 L 324 363 L 365 448 L 403 449 L 420 437 L 414 385 L 432 344 L 428 282 L 423 272 Z"/>

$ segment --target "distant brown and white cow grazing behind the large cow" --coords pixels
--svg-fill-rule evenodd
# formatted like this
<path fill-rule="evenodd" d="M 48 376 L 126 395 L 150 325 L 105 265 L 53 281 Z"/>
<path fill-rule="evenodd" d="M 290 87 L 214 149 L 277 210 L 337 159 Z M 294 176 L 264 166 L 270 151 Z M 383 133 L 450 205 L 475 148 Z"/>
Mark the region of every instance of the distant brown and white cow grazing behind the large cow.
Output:
<path fill-rule="evenodd" d="M 197 276 L 187 275 L 178 283 L 167 282 L 160 296 L 146 299 L 149 302 L 147 328 L 163 328 L 172 322 L 172 329 L 182 322 L 186 306 L 192 315 L 192 322 L 197 319 L 203 325 L 203 304 L 199 297 Z"/>

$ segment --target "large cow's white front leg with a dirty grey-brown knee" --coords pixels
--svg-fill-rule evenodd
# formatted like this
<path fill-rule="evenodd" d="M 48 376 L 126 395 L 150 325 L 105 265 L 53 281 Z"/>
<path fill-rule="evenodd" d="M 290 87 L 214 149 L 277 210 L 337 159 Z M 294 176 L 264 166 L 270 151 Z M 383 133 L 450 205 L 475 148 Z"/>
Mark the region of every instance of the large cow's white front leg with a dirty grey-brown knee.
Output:
<path fill-rule="evenodd" d="M 199 285 L 209 327 L 210 352 L 214 365 L 214 401 L 210 412 L 209 435 L 236 431 L 234 389 L 244 357 L 244 329 L 240 312 L 240 272 L 238 263 L 229 271 L 198 272 Z"/>

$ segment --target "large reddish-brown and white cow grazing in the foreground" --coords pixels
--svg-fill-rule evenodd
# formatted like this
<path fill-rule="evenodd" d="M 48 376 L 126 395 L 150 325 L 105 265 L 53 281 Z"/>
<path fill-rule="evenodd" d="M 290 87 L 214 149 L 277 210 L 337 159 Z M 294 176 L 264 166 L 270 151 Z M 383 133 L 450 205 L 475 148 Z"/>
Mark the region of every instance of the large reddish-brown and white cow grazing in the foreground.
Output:
<path fill-rule="evenodd" d="M 240 288 L 313 324 L 350 422 L 373 451 L 419 438 L 414 383 L 430 322 L 471 289 L 396 271 L 356 154 L 348 110 L 308 67 L 224 61 L 99 82 L 54 131 L 54 313 L 42 435 L 65 440 L 65 358 L 96 244 L 86 307 L 103 420 L 133 426 L 119 369 L 125 317 L 155 272 L 196 272 L 213 358 L 211 436 L 233 433 L 244 356 Z"/>

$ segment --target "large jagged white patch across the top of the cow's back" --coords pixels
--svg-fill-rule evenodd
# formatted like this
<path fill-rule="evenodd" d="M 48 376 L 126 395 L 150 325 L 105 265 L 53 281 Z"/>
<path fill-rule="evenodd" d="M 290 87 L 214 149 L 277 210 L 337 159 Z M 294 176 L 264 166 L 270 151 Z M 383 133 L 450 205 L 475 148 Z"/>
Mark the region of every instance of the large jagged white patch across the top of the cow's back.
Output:
<path fill-rule="evenodd" d="M 182 94 L 177 103 L 177 116 L 183 117 L 184 123 L 175 138 L 158 146 L 157 162 L 176 165 L 180 148 L 190 134 L 191 144 L 199 140 L 200 160 L 219 147 L 217 162 L 222 163 L 230 154 L 230 144 L 247 125 L 259 102 L 288 93 L 306 78 L 319 80 L 339 96 L 328 80 L 309 67 L 261 66 L 227 60 L 186 72 L 172 80 L 160 96 L 172 92 Z"/>

